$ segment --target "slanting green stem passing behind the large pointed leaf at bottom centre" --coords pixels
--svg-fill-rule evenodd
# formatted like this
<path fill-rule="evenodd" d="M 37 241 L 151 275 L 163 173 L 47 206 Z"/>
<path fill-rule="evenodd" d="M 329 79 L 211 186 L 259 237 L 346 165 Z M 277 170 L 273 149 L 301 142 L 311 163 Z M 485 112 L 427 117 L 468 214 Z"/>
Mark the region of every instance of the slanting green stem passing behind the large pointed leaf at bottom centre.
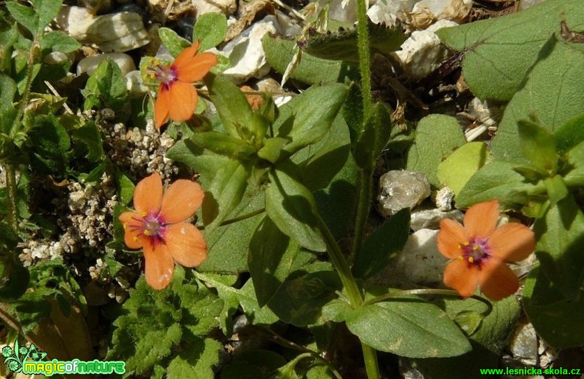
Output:
<path fill-rule="evenodd" d="M 355 277 L 353 277 L 351 267 L 349 267 L 347 260 L 345 259 L 345 256 L 341 252 L 341 248 L 339 247 L 337 241 L 335 240 L 335 237 L 333 237 L 332 233 L 330 233 L 330 230 L 326 226 L 323 219 L 321 219 L 321 216 L 316 215 L 316 217 L 318 220 L 318 229 L 320 229 L 325 240 L 330 261 L 332 262 L 332 265 L 334 265 L 335 268 L 337 269 L 337 272 L 339 272 L 339 277 L 341 278 L 341 282 L 343 283 L 351 307 L 356 309 L 363 304 L 363 297 L 361 295 L 361 291 L 359 291 L 359 287 L 357 286 Z M 361 342 L 361 348 L 363 350 L 363 358 L 365 362 L 365 369 L 367 370 L 367 378 L 369 379 L 380 378 L 376 350 L 363 342 Z"/>

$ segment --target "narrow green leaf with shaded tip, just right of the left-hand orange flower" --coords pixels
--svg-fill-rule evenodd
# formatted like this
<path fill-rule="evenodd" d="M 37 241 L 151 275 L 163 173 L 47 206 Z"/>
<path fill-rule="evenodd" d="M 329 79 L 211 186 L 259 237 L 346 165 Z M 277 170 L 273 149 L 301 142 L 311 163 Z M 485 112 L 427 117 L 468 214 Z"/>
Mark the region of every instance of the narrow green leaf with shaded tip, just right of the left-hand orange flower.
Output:
<path fill-rule="evenodd" d="M 247 187 L 249 170 L 237 160 L 225 162 L 208 185 L 203 200 L 203 222 L 212 231 L 229 216 L 241 201 Z"/>

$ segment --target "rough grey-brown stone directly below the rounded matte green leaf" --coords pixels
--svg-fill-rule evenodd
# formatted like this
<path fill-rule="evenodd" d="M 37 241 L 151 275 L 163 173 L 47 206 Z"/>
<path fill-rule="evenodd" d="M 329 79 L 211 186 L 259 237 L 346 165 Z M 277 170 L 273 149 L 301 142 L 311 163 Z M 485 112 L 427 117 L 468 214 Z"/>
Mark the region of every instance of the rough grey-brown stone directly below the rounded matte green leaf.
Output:
<path fill-rule="evenodd" d="M 378 209 L 385 217 L 404 208 L 414 208 L 428 196 L 430 183 L 423 173 L 388 171 L 379 179 Z"/>

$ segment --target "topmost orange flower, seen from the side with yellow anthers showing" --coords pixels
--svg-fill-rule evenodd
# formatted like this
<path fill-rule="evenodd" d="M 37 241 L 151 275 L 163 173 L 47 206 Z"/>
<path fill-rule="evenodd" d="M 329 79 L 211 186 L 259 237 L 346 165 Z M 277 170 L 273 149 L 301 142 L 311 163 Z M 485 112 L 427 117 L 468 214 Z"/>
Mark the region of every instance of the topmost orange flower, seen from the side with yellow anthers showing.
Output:
<path fill-rule="evenodd" d="M 154 121 L 158 129 L 169 118 L 187 121 L 197 108 L 199 97 L 192 83 L 203 79 L 217 64 L 215 54 L 206 52 L 197 55 L 197 49 L 199 41 L 184 49 L 171 65 L 155 65 L 151 69 L 151 76 L 160 82 L 154 105 Z"/>

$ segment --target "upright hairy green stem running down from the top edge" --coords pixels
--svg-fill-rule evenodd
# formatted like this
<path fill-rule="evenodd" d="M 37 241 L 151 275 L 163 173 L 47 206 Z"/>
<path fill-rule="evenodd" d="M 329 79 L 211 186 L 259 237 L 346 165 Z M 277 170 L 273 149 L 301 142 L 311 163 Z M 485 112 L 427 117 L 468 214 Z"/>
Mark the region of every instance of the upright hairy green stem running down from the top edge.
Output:
<path fill-rule="evenodd" d="M 363 119 L 367 120 L 373 110 L 371 99 L 371 54 L 369 52 L 369 31 L 367 30 L 367 0 L 357 0 L 359 69 L 361 91 L 363 93 Z"/>

